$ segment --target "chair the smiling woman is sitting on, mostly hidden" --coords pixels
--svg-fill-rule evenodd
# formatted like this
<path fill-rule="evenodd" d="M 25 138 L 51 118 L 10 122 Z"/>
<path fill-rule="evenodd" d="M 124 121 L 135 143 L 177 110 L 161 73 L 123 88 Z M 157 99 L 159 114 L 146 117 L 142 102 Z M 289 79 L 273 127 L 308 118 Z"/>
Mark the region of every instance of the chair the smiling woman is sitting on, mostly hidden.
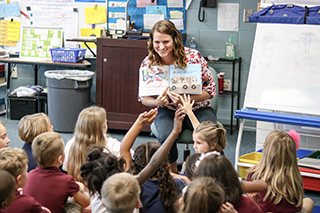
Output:
<path fill-rule="evenodd" d="M 213 69 L 212 67 L 209 66 L 209 69 L 212 73 L 213 76 L 213 80 L 216 83 L 216 95 L 210 99 L 211 100 L 211 107 L 215 110 L 215 112 L 218 112 L 218 100 L 219 100 L 219 85 L 218 85 L 218 76 L 217 76 L 217 72 L 215 69 Z M 218 122 L 219 123 L 219 122 Z M 219 123 L 221 126 L 223 126 L 221 123 Z M 156 129 L 156 126 L 154 123 L 151 124 L 150 126 L 151 129 L 151 133 L 157 137 L 158 132 Z M 193 139 L 192 139 L 192 131 L 189 129 L 185 129 L 183 130 L 180 135 L 177 138 L 177 143 L 179 144 L 185 144 L 185 149 L 184 149 L 184 153 L 183 153 L 183 160 L 185 161 L 186 158 L 190 155 L 190 149 L 189 149 L 189 144 L 193 144 Z"/>

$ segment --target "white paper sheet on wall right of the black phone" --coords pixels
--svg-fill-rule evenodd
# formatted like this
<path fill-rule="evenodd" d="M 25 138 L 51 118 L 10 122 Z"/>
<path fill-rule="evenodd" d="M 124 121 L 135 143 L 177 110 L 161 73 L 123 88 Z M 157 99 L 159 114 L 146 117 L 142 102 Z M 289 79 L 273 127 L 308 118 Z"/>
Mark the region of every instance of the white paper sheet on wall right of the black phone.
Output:
<path fill-rule="evenodd" d="M 239 31 L 239 4 L 218 4 L 218 31 Z"/>

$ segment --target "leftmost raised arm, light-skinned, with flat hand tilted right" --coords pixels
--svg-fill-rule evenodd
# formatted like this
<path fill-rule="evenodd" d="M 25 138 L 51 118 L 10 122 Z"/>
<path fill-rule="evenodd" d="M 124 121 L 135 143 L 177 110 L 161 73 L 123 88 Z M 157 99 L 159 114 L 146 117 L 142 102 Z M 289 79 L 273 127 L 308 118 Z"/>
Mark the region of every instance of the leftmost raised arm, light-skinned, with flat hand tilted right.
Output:
<path fill-rule="evenodd" d="M 125 168 L 126 171 L 129 169 L 129 163 L 132 158 L 130 149 L 134 141 L 138 137 L 144 125 L 148 123 L 152 123 L 156 118 L 157 114 L 158 114 L 157 109 L 151 109 L 149 112 L 141 113 L 137 118 L 137 120 L 132 125 L 132 127 L 129 129 L 127 134 L 122 139 L 121 145 L 120 145 L 120 156 L 126 160 L 126 168 Z"/>

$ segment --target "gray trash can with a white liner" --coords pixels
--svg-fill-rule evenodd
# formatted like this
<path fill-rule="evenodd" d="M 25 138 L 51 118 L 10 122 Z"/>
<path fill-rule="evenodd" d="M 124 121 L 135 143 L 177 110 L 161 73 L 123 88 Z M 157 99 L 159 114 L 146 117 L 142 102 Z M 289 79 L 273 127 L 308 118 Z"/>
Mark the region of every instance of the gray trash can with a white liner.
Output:
<path fill-rule="evenodd" d="M 46 71 L 48 116 L 54 131 L 73 132 L 79 113 L 90 105 L 91 71 Z"/>

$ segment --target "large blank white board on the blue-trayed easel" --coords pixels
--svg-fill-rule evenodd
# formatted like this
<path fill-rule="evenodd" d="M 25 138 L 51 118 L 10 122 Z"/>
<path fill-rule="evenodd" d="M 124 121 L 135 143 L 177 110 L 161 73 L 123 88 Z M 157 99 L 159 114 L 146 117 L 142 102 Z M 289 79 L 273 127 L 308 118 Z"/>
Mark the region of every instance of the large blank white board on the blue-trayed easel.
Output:
<path fill-rule="evenodd" d="M 320 115 L 320 26 L 257 24 L 244 108 Z"/>

